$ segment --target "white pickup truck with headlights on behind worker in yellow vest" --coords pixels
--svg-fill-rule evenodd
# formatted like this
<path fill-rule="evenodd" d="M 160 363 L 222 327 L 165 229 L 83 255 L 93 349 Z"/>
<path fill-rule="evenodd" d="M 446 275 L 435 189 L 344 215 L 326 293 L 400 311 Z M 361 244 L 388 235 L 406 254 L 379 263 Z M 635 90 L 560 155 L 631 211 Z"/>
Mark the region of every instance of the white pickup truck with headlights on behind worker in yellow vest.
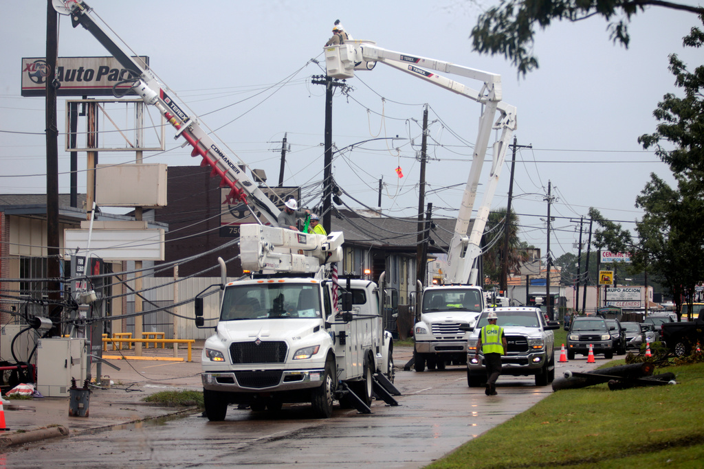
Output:
<path fill-rule="evenodd" d="M 503 328 L 508 342 L 508 353 L 501 357 L 501 374 L 512 376 L 535 376 L 536 386 L 547 386 L 555 379 L 555 338 L 553 330 L 560 328 L 556 321 L 546 321 L 540 308 L 503 307 L 488 308 L 477 319 L 467 340 L 467 385 L 483 386 L 486 383 L 484 356 L 477 352 L 479 332 L 488 324 L 486 315 L 494 311 L 498 316 L 497 326 Z"/>

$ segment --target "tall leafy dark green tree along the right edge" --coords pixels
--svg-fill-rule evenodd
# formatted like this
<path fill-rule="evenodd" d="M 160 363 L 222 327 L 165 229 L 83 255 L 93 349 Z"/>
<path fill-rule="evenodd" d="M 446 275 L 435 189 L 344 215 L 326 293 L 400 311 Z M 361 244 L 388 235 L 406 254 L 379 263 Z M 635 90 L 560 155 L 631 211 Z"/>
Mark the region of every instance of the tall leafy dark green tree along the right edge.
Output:
<path fill-rule="evenodd" d="M 704 22 L 704 15 L 700 18 Z M 684 38 L 685 46 L 703 44 L 704 34 L 698 28 Z M 672 54 L 670 70 L 685 96 L 666 94 L 653 113 L 660 122 L 655 133 L 641 136 L 639 142 L 646 149 L 656 147 L 657 155 L 672 169 L 677 188 L 650 174 L 636 198 L 636 207 L 645 211 L 636 223 L 637 240 L 620 225 L 604 220 L 598 211 L 591 209 L 590 216 L 601 226 L 595 245 L 611 250 L 632 248 L 634 263 L 658 276 L 672 292 L 679 311 L 682 297 L 691 304 L 696 285 L 704 280 L 704 66 L 689 72 Z M 663 141 L 674 149 L 667 150 Z"/>

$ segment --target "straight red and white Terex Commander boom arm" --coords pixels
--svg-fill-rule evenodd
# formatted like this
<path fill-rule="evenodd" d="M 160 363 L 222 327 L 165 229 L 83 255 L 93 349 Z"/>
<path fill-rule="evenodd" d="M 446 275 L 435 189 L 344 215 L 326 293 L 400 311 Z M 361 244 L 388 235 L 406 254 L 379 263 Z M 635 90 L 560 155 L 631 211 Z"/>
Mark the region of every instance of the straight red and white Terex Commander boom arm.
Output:
<path fill-rule="evenodd" d="M 175 139 L 183 136 L 193 147 L 191 156 L 201 156 L 201 166 L 209 165 L 210 176 L 220 176 L 220 187 L 230 187 L 226 202 L 245 203 L 254 217 L 258 212 L 267 221 L 279 226 L 277 216 L 280 210 L 263 193 L 257 184 L 247 176 L 246 172 L 230 159 L 229 156 L 210 138 L 199 125 L 197 117 L 185 113 L 173 99 L 158 84 L 149 70 L 140 65 L 129 53 L 115 43 L 111 37 L 97 24 L 91 15 L 92 8 L 82 0 L 54 0 L 54 8 L 58 13 L 71 16 L 73 27 L 81 25 L 88 30 L 127 70 L 134 73 L 133 90 L 148 105 L 155 106 L 166 120 L 175 127 Z"/>

